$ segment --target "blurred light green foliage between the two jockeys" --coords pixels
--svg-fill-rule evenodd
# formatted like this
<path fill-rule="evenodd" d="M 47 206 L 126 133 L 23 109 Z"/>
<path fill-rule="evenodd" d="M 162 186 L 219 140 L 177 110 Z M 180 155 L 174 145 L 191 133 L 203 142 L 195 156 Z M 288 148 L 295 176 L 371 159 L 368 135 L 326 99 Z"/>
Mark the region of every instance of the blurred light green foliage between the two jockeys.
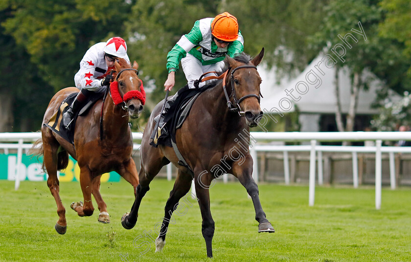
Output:
<path fill-rule="evenodd" d="M 164 82 L 167 79 L 167 53 L 181 36 L 190 32 L 196 20 L 216 15 L 217 0 L 137 0 L 131 17 L 126 22 L 130 36 L 129 53 L 136 57 L 141 77 L 154 80 L 148 86 L 153 90 L 151 99 L 156 104 L 164 98 Z M 182 17 L 183 15 L 183 17 Z M 183 18 L 183 19 L 182 19 Z M 176 74 L 176 92 L 186 84 L 183 70 Z"/>

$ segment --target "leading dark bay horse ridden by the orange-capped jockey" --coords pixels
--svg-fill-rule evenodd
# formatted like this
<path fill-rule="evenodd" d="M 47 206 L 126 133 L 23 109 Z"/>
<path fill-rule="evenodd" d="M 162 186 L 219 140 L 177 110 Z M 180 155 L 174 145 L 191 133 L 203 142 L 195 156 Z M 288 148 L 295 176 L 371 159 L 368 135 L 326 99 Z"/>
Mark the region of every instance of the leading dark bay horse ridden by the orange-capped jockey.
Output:
<path fill-rule="evenodd" d="M 253 160 L 249 152 L 250 127 L 255 127 L 262 117 L 261 78 L 256 66 L 263 56 L 264 48 L 252 60 L 244 53 L 234 59 L 227 56 L 225 61 L 228 69 L 224 79 L 199 95 L 183 125 L 177 129 L 176 144 L 193 171 L 193 176 L 187 167 L 179 164 L 173 148 L 163 145 L 156 148 L 150 145 L 150 135 L 155 126 L 154 118 L 160 113 L 162 102 L 154 108 L 141 141 L 140 183 L 137 186 L 136 199 L 131 211 L 126 213 L 121 221 L 126 229 L 135 226 L 141 199 L 150 189 L 150 182 L 160 168 L 171 161 L 178 168 L 178 175 L 164 208 L 164 219 L 156 240 L 156 252 L 161 251 L 165 245 L 165 235 L 172 213 L 179 208 L 179 200 L 189 191 L 193 177 L 203 218 L 202 233 L 208 257 L 212 257 L 214 235 L 208 189 L 211 181 L 223 173 L 233 174 L 247 189 L 254 205 L 255 219 L 259 222 L 258 232 L 274 232 L 261 207 L 257 184 L 251 177 Z M 231 107 L 228 108 L 228 105 Z"/>

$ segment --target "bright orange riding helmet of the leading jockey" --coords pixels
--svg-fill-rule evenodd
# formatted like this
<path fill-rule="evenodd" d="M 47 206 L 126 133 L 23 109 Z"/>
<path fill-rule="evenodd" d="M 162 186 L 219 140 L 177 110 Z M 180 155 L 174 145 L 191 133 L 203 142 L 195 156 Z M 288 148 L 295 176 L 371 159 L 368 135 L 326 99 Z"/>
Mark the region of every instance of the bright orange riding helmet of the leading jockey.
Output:
<path fill-rule="evenodd" d="M 232 42 L 238 38 L 238 22 L 237 19 L 224 12 L 214 18 L 211 22 L 211 34 L 223 41 Z"/>

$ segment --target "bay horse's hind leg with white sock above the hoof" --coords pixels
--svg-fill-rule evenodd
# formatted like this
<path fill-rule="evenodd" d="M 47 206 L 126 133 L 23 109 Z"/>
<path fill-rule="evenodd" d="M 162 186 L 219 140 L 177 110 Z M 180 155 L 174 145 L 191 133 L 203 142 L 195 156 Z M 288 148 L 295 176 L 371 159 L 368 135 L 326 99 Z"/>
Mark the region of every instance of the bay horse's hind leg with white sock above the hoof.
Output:
<path fill-rule="evenodd" d="M 165 235 L 167 233 L 168 225 L 171 222 L 174 224 L 175 220 L 173 218 L 173 212 L 176 211 L 177 215 L 182 216 L 186 212 L 186 207 L 184 211 L 182 210 L 185 206 L 184 203 L 179 202 L 180 199 L 187 194 L 191 186 L 191 175 L 183 173 L 179 170 L 176 181 L 174 182 L 173 189 L 170 192 L 170 197 L 168 198 L 164 207 L 164 218 L 161 224 L 160 234 L 156 239 L 156 252 L 160 252 L 165 245 Z M 186 204 L 191 205 L 190 202 L 184 199 Z M 192 205 L 191 205 L 192 206 Z"/>

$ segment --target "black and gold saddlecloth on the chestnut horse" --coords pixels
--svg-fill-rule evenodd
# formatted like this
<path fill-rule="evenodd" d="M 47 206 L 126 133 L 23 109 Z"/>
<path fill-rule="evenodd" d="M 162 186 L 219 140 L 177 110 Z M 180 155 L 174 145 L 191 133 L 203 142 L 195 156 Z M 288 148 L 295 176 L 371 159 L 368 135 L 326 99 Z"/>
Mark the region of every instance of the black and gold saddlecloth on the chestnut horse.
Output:
<path fill-rule="evenodd" d="M 70 142 L 71 144 L 74 144 L 74 128 L 71 128 L 70 131 L 68 131 L 64 127 L 63 114 L 68 110 L 68 107 L 73 102 L 73 100 L 76 98 L 76 96 L 77 96 L 77 93 L 68 95 L 68 97 L 62 101 L 62 103 L 60 104 L 60 107 L 50 118 L 48 123 L 45 123 L 45 125 L 48 128 L 50 128 L 51 131 L 58 134 L 60 137 L 64 138 L 66 141 Z M 73 121 L 71 123 L 71 126 L 75 126 L 78 116 L 86 115 L 89 109 L 91 108 L 91 106 L 95 104 L 97 101 L 99 101 L 103 96 L 104 96 L 104 93 L 90 92 L 90 95 L 88 95 L 87 97 L 88 102 L 82 108 L 80 108 L 80 110 L 78 110 L 77 113 L 73 116 Z"/>

